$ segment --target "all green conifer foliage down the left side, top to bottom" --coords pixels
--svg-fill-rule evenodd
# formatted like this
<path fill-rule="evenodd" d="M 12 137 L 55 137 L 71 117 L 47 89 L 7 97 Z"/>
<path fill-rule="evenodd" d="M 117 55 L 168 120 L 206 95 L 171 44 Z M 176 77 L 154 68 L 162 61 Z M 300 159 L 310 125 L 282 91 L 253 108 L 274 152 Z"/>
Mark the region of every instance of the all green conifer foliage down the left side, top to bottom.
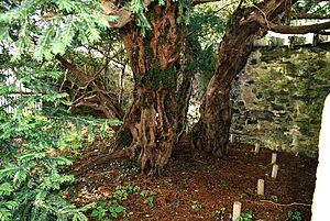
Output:
<path fill-rule="evenodd" d="M 0 220 L 88 220 L 84 211 L 94 205 L 77 208 L 61 192 L 75 181 L 63 173 L 73 163 L 63 152 L 91 142 L 96 130 L 105 134 L 111 121 L 67 111 L 68 95 L 58 92 L 64 71 L 53 58 L 99 41 L 111 19 L 101 11 L 98 1 L 0 3 Z"/>

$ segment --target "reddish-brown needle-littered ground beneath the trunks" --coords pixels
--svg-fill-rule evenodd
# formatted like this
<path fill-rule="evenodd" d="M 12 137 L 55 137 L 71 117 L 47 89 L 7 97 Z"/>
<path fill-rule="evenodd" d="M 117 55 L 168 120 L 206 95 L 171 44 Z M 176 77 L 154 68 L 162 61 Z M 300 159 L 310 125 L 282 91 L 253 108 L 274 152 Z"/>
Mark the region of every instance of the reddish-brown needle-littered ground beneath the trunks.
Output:
<path fill-rule="evenodd" d="M 91 146 L 75 166 L 100 153 L 97 145 Z M 230 220 L 234 201 L 242 203 L 243 213 L 252 211 L 253 218 L 246 220 L 310 220 L 317 159 L 278 153 L 279 170 L 274 179 L 271 157 L 272 151 L 262 148 L 255 155 L 245 144 L 232 145 L 227 159 L 186 146 L 174 152 L 157 177 L 141 175 L 129 162 L 109 162 L 80 175 L 80 181 L 65 194 L 79 206 L 92 200 L 110 203 L 109 196 L 119 185 L 138 186 L 139 190 L 120 201 L 127 216 L 118 220 Z M 264 196 L 256 195 L 257 179 L 265 180 Z M 144 191 L 147 196 L 142 190 L 148 190 Z M 298 219 L 288 219 L 289 211 Z"/>

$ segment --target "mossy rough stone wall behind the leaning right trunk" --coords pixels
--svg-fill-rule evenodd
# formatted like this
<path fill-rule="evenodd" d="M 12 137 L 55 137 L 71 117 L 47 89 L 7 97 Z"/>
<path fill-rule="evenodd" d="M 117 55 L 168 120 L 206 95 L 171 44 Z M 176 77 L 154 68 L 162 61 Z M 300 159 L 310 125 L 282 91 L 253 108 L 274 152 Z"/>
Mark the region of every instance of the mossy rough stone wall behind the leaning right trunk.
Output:
<path fill-rule="evenodd" d="M 258 47 L 232 86 L 237 141 L 317 156 L 330 46 Z"/>

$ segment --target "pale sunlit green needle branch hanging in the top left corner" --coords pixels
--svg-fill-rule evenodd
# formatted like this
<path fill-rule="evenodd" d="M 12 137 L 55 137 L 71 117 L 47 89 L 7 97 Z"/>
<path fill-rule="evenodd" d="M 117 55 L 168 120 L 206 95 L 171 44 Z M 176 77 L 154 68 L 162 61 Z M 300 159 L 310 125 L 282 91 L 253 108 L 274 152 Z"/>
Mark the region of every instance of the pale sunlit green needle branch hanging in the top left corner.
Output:
<path fill-rule="evenodd" d="M 92 44 L 114 20 L 101 13 L 101 2 L 92 0 L 25 0 L 0 7 L 0 42 L 13 47 L 12 60 L 26 54 L 51 59 L 74 44 Z"/>

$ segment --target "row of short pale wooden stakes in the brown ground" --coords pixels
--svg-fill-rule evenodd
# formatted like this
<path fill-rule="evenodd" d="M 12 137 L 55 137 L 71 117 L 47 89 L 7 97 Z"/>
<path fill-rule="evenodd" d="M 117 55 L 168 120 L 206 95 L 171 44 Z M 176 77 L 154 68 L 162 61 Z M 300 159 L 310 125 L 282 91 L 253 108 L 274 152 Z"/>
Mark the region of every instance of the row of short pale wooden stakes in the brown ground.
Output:
<path fill-rule="evenodd" d="M 260 144 L 257 143 L 257 144 L 255 144 L 254 154 L 258 154 L 258 152 L 260 152 Z M 273 168 L 272 168 L 271 177 L 274 179 L 276 179 L 277 173 L 278 173 L 278 165 L 276 164 L 276 159 L 277 159 L 277 153 L 272 153 L 271 165 L 273 165 Z M 256 194 L 258 196 L 263 196 L 265 194 L 265 180 L 264 179 L 257 180 Z M 232 210 L 232 221 L 237 221 L 240 218 L 241 209 L 242 209 L 242 203 L 240 201 L 234 201 L 233 210 Z"/>

